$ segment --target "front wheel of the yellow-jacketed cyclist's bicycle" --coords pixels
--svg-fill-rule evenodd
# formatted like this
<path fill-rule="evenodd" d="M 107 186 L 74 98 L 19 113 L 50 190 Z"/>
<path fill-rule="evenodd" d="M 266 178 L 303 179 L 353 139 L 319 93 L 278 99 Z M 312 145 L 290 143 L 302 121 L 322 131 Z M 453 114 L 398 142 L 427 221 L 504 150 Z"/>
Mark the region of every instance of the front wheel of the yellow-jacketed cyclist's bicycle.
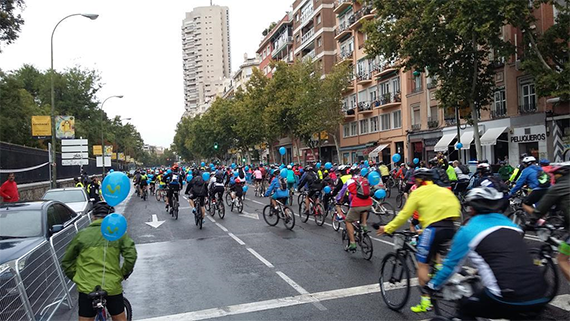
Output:
<path fill-rule="evenodd" d="M 386 254 L 380 268 L 382 300 L 394 311 L 401 310 L 410 297 L 410 270 L 405 259 L 394 252 Z"/>

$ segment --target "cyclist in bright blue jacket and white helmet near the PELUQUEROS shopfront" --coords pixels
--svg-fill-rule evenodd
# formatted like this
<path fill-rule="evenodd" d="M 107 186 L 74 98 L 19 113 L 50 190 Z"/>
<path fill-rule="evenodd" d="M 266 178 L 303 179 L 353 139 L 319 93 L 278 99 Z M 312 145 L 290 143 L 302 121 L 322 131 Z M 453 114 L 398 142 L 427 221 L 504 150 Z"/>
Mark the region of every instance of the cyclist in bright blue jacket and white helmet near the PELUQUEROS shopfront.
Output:
<path fill-rule="evenodd" d="M 525 169 L 522 171 L 517 184 L 511 190 L 509 197 L 513 197 L 524 185 L 532 190 L 530 194 L 523 200 L 522 207 L 527 213 L 532 213 L 534 211 L 534 204 L 538 203 L 540 199 L 548 191 L 550 186 L 550 177 L 548 177 L 546 182 L 541 183 L 539 180 L 540 173 L 548 175 L 542 171 L 540 166 L 536 165 L 536 158 L 533 156 L 527 156 L 523 159 L 523 164 Z"/>

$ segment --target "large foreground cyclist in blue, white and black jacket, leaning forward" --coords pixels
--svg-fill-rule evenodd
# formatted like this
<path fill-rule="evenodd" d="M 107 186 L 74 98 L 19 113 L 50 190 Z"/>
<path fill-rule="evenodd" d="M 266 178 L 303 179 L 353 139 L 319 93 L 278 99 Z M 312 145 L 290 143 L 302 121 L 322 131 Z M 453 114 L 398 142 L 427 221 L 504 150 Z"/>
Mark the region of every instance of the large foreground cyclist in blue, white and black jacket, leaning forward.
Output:
<path fill-rule="evenodd" d="M 547 283 L 533 263 L 522 230 L 502 214 L 509 202 L 503 193 L 489 187 L 472 189 L 466 201 L 472 219 L 453 237 L 443 268 L 428 283 L 428 289 L 441 289 L 470 257 L 484 288 L 459 302 L 461 320 L 518 320 L 521 312 L 540 312 L 548 303 L 544 298 Z"/>

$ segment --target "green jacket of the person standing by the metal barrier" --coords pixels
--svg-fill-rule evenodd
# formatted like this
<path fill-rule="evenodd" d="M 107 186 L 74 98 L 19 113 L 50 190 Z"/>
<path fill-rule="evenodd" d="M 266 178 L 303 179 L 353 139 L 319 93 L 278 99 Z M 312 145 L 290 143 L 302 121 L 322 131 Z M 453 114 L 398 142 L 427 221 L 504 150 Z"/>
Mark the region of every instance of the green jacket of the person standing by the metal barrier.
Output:
<path fill-rule="evenodd" d="M 100 285 L 109 295 L 118 295 L 123 293 L 121 282 L 133 272 L 137 250 L 135 242 L 127 234 L 114 242 L 104 239 L 101 222 L 102 219 L 96 220 L 75 235 L 65 251 L 61 267 L 65 275 L 77 284 L 77 290 L 81 293 L 89 294 Z M 121 256 L 124 258 L 122 267 Z"/>

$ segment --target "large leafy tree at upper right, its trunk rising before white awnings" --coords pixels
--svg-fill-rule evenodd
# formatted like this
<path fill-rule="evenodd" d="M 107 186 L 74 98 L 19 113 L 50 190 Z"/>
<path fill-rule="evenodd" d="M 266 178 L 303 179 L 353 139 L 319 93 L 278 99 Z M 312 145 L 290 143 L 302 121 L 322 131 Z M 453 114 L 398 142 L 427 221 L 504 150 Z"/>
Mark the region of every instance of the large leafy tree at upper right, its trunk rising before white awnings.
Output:
<path fill-rule="evenodd" d="M 427 71 L 439 80 L 443 108 L 469 107 L 477 158 L 482 158 L 479 111 L 494 91 L 494 61 L 514 54 L 501 28 L 520 26 L 528 1 L 374 0 L 377 18 L 365 23 L 366 51 L 406 71 Z"/>

